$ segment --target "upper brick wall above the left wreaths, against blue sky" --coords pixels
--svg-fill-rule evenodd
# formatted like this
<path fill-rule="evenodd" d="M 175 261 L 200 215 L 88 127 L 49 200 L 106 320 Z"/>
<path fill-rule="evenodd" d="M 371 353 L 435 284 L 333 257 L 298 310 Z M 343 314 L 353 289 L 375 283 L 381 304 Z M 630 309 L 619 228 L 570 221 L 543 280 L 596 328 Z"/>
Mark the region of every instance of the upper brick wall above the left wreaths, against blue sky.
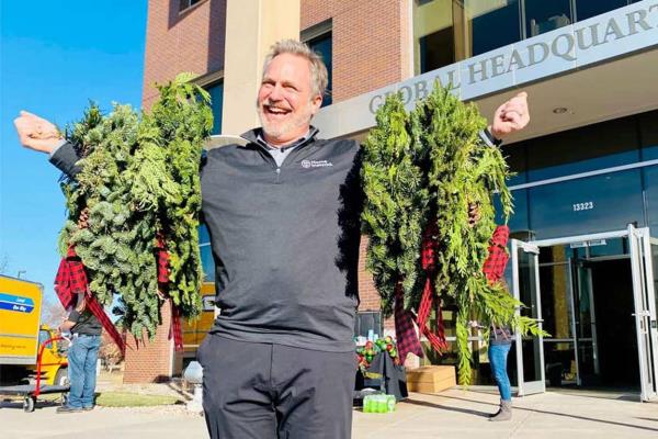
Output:
<path fill-rule="evenodd" d="M 226 0 L 206 0 L 179 12 L 179 0 L 149 0 L 141 103 L 157 97 L 155 82 L 181 71 L 205 75 L 224 68 Z"/>

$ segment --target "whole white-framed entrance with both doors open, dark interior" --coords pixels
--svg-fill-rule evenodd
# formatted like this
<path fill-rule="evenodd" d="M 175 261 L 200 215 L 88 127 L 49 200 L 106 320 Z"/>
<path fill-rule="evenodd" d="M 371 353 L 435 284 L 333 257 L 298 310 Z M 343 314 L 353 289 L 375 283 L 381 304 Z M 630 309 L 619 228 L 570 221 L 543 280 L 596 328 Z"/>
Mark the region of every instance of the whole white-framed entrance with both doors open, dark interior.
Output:
<path fill-rule="evenodd" d="M 564 255 L 548 258 L 559 246 L 564 246 Z M 540 249 L 542 285 L 552 299 L 545 303 L 540 289 Z M 542 306 L 548 306 L 546 327 L 555 334 L 546 339 L 546 347 L 556 350 L 555 346 L 572 344 L 567 347 L 574 351 L 575 368 L 568 370 L 569 376 L 563 373 L 554 380 L 558 385 L 570 381 L 627 387 L 639 379 L 642 401 L 658 399 L 658 239 L 650 237 L 648 228 L 628 225 L 604 234 L 532 243 L 512 239 L 511 261 L 512 291 L 524 304 L 519 313 L 536 319 L 543 328 Z M 565 267 L 571 267 L 570 273 L 563 273 Z M 553 376 L 548 372 L 559 362 L 551 350 L 545 360 L 544 341 L 517 335 L 519 396 L 545 392 L 546 374 Z M 631 356 L 637 356 L 637 363 Z M 566 370 L 563 367 L 563 372 Z"/>

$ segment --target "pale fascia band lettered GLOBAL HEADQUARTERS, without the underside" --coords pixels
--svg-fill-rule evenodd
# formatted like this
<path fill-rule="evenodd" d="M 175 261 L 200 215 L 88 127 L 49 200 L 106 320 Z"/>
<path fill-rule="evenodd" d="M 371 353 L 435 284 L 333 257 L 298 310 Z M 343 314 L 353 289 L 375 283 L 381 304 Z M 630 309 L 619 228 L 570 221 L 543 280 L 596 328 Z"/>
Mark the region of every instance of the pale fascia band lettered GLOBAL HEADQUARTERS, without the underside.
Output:
<path fill-rule="evenodd" d="M 386 95 L 400 92 L 411 106 L 436 80 L 472 100 L 654 46 L 658 1 L 640 1 L 329 105 L 314 123 L 325 136 L 353 133 L 374 125 Z"/>

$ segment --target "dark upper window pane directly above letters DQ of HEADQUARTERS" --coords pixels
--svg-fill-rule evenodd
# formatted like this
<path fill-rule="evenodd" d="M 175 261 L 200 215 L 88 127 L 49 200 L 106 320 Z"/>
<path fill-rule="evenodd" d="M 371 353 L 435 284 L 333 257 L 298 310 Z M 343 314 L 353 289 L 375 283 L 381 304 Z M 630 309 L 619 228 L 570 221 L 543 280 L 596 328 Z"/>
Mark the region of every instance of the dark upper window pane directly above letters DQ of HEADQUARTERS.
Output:
<path fill-rule="evenodd" d="M 525 0 L 525 35 L 551 32 L 574 23 L 570 0 Z"/>

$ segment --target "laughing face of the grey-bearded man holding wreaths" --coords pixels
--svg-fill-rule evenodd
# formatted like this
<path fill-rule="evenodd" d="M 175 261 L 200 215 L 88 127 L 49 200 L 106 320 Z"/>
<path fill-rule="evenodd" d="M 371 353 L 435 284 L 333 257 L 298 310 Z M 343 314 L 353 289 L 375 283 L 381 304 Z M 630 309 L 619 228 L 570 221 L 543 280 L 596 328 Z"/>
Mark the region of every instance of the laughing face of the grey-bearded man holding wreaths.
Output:
<path fill-rule="evenodd" d="M 265 140 L 285 145 L 308 132 L 322 97 L 314 95 L 307 59 L 281 54 L 272 59 L 258 92 L 258 114 Z"/>

